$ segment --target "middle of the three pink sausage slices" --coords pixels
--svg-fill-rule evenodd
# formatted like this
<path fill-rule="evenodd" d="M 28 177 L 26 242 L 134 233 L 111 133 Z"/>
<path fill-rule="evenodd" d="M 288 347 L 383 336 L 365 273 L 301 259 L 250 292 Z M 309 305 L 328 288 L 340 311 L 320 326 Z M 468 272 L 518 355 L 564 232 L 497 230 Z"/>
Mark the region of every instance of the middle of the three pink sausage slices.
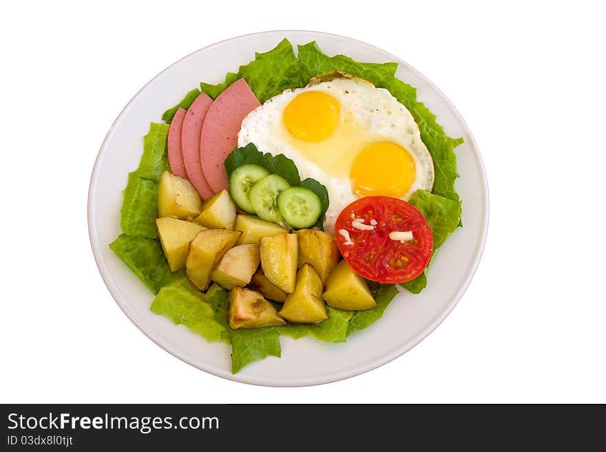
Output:
<path fill-rule="evenodd" d="M 205 93 L 200 94 L 187 109 L 181 127 L 181 153 L 189 182 L 196 188 L 202 199 L 213 195 L 202 166 L 200 166 L 200 131 L 213 100 Z"/>

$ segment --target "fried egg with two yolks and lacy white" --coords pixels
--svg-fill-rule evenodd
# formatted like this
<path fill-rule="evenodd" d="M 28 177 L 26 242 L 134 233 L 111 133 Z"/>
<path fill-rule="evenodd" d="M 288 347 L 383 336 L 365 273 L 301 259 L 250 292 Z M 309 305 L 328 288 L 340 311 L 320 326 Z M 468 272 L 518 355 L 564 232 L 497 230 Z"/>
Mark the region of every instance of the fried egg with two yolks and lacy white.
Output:
<path fill-rule="evenodd" d="M 286 90 L 242 121 L 238 146 L 291 158 L 301 179 L 328 190 L 324 229 L 359 197 L 408 200 L 434 182 L 431 155 L 410 111 L 387 89 L 357 78 L 335 78 Z"/>

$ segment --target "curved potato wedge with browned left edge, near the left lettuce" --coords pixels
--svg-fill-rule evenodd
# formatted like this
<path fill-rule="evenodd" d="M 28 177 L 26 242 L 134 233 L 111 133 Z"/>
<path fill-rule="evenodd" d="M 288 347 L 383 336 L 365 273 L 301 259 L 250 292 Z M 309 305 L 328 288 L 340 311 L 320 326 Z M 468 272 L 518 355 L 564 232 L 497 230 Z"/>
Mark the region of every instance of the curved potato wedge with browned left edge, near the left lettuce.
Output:
<path fill-rule="evenodd" d="M 207 290 L 211 274 L 224 254 L 236 244 L 240 231 L 227 229 L 201 230 L 189 243 L 185 261 L 187 276 L 199 290 Z"/>

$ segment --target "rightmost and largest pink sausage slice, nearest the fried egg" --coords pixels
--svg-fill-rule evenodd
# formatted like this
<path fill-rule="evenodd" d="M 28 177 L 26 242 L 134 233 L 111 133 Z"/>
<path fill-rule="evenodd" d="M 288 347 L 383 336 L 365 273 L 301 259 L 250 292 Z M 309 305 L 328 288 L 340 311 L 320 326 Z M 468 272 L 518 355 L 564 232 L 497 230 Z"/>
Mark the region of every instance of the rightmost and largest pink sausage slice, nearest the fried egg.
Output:
<path fill-rule="evenodd" d="M 242 120 L 260 105 L 246 80 L 240 78 L 225 89 L 209 108 L 200 135 L 200 162 L 213 191 L 228 188 L 223 162 L 238 145 Z"/>

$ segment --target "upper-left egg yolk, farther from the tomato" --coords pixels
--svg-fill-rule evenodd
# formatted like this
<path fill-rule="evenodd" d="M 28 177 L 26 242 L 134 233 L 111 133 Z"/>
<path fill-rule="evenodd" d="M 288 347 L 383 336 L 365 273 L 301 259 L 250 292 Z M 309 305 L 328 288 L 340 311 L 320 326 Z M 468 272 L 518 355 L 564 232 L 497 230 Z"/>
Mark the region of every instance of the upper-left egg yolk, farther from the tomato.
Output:
<path fill-rule="evenodd" d="M 284 109 L 284 125 L 303 141 L 322 141 L 339 124 L 339 101 L 321 91 L 306 91 Z"/>

